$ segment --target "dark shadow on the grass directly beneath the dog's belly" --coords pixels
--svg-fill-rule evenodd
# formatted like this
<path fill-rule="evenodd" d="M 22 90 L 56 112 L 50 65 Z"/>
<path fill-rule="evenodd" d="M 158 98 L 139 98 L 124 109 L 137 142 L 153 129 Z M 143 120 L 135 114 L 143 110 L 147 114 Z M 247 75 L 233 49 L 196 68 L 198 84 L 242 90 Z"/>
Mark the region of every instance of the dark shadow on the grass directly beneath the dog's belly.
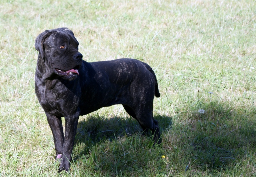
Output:
<path fill-rule="evenodd" d="M 158 121 L 162 133 L 172 127 L 171 117 L 156 115 L 154 119 Z M 77 150 L 76 154 L 78 155 L 74 159 L 79 159 L 83 154 L 89 154 L 92 147 L 99 142 L 111 142 L 115 141 L 117 137 L 137 134 L 142 134 L 142 128 L 138 121 L 132 117 L 87 116 L 78 122 L 75 144 L 79 144 L 80 149 Z"/>

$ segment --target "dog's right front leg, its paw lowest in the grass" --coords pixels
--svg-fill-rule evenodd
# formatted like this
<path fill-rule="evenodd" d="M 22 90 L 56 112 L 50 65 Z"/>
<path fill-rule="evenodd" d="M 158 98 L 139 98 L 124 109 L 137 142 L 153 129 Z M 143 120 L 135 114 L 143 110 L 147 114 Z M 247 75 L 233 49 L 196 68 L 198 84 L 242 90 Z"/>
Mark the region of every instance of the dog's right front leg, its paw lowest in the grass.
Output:
<path fill-rule="evenodd" d="M 76 114 L 65 117 L 65 121 L 66 121 L 65 137 L 64 137 L 64 142 L 62 146 L 62 159 L 61 159 L 60 168 L 58 172 L 61 172 L 63 170 L 68 171 L 70 168 L 69 162 L 71 162 L 72 160 L 71 154 L 72 154 L 74 140 L 76 136 L 79 113 L 80 112 L 77 111 Z"/>

